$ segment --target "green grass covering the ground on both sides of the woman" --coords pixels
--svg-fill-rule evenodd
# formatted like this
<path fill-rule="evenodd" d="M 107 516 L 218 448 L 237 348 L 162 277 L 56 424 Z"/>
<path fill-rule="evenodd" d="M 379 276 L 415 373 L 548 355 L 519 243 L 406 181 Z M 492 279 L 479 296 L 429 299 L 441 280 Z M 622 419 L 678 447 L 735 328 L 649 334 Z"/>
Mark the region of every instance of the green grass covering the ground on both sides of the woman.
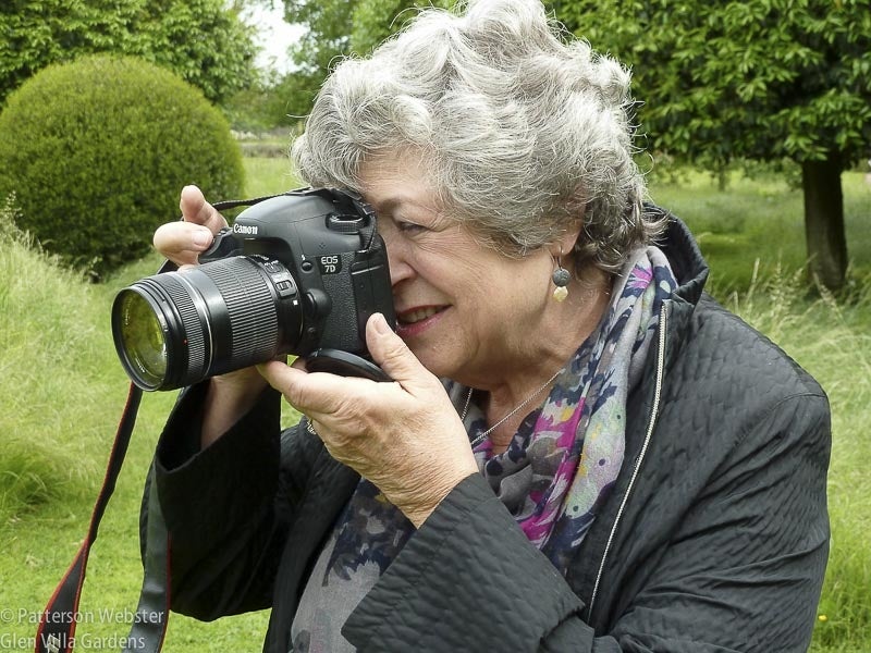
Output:
<path fill-rule="evenodd" d="M 249 196 L 296 186 L 284 159 L 246 164 Z M 862 276 L 871 267 L 871 242 L 860 229 L 869 219 L 871 187 L 854 174 L 845 175 L 845 189 L 857 281 L 849 301 L 841 304 L 807 298 L 800 195 L 785 184 L 736 178 L 720 193 L 699 175 L 651 190 L 701 234 L 721 300 L 778 342 L 832 401 L 833 545 L 815 653 L 871 651 L 871 288 Z M 0 623 L 0 634 L 26 641 L 36 629 L 30 619 L 85 533 L 126 398 L 109 331 L 112 297 L 160 261 L 151 256 L 89 285 L 35 254 L 9 224 L 9 211 L 0 211 L 0 609 L 14 611 Z M 142 481 L 173 399 L 174 393 L 154 393 L 143 401 L 88 567 L 81 608 L 96 623 L 83 624 L 79 636 L 109 641 L 126 634 L 123 614 L 135 606 L 140 583 Z M 100 611 L 122 618 L 101 619 Z M 259 651 L 266 619 L 256 613 L 200 624 L 173 615 L 164 650 Z"/>

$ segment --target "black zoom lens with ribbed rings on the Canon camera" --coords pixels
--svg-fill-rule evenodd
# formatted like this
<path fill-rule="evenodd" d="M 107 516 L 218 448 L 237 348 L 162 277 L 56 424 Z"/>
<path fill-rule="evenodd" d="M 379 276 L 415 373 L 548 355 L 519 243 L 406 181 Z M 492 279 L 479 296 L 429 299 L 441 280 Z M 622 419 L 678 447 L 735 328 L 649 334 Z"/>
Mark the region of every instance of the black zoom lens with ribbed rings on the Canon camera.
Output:
<path fill-rule="evenodd" d="M 279 261 L 240 256 L 147 276 L 112 306 L 115 349 L 143 390 L 172 390 L 291 352 L 303 310 Z"/>

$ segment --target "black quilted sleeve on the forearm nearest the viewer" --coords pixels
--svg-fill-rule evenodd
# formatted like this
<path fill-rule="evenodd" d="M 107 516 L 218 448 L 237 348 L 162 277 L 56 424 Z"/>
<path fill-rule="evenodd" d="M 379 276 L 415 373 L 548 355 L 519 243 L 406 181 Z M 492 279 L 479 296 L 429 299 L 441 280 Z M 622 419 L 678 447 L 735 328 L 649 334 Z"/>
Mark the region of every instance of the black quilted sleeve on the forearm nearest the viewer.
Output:
<path fill-rule="evenodd" d="M 417 651 L 536 651 L 581 607 L 483 478 L 471 475 L 408 541 L 342 632 L 359 651 L 398 653 L 408 642 Z"/>

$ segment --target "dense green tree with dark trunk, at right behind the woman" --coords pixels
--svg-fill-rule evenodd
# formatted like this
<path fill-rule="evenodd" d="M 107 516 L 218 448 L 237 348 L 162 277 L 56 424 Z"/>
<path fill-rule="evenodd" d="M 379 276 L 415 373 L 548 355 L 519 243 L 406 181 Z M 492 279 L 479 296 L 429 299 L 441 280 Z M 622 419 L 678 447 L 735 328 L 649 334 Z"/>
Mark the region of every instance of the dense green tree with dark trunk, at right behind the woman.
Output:
<path fill-rule="evenodd" d="M 653 150 L 712 169 L 801 164 L 808 251 L 844 282 L 841 172 L 871 148 L 871 0 L 557 0 L 557 17 L 633 66 Z"/>

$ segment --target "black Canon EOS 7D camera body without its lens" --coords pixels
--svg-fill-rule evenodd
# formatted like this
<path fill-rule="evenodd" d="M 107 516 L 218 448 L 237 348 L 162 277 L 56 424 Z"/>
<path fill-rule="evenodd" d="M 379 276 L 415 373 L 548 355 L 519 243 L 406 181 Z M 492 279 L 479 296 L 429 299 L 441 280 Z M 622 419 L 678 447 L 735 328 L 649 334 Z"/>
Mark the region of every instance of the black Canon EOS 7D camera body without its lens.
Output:
<path fill-rule="evenodd" d="M 387 250 L 376 225 L 375 211 L 358 196 L 307 188 L 246 209 L 199 260 L 242 255 L 263 261 L 280 296 L 303 310 L 305 326 L 294 354 L 366 355 L 369 317 L 382 312 L 392 328 L 396 323 Z"/>

